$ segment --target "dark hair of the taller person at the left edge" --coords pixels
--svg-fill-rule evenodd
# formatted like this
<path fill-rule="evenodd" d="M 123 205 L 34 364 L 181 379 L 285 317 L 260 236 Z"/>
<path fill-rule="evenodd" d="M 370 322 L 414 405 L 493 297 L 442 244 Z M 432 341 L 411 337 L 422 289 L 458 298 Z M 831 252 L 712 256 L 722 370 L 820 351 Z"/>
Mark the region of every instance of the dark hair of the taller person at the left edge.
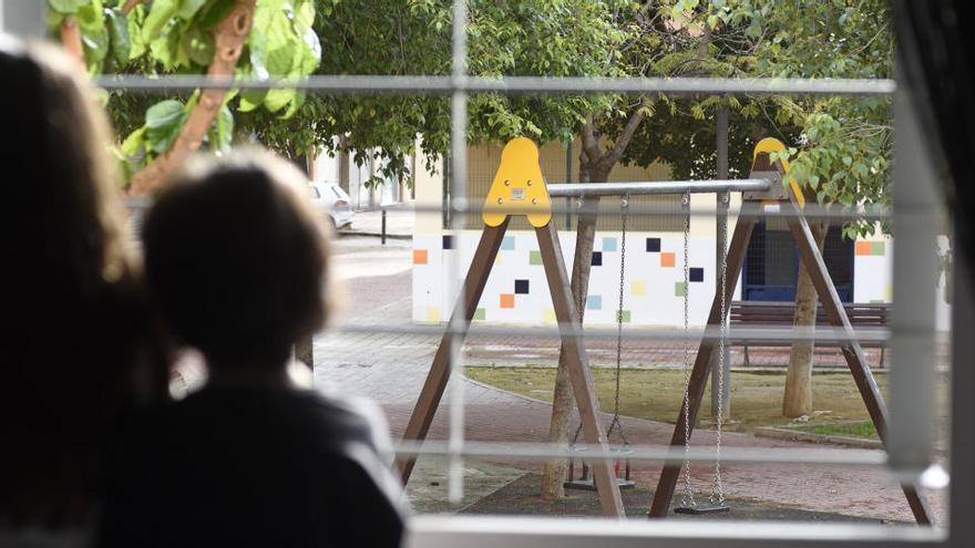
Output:
<path fill-rule="evenodd" d="M 107 121 L 80 63 L 0 35 L 0 527 L 85 527 L 146 372 L 141 286 Z"/>

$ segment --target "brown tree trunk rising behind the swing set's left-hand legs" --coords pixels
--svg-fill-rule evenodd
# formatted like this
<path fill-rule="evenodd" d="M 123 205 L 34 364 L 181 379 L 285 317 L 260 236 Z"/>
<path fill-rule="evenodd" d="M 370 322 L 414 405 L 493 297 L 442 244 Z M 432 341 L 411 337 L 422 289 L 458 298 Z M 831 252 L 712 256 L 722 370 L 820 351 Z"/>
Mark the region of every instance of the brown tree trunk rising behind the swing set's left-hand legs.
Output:
<path fill-rule="evenodd" d="M 583 166 L 579 182 L 605 183 L 608 172 L 594 172 Z M 576 227 L 575 254 L 572 262 L 572 298 L 576 303 L 579 314 L 579 324 L 583 322 L 586 311 L 586 294 L 589 290 L 589 270 L 592 268 L 593 244 L 596 236 L 596 208 L 599 198 L 584 198 Z M 575 415 L 575 397 L 572 392 L 572 382 L 568 376 L 568 365 L 565 363 L 565 351 L 560 349 L 558 369 L 555 373 L 555 390 L 552 401 L 552 420 L 548 424 L 548 442 L 565 444 L 571 442 L 574 434 L 573 416 Z M 598 417 L 597 417 L 598 420 Z M 565 497 L 563 483 L 566 479 L 566 462 L 564 459 L 545 463 L 542 471 L 542 498 L 553 500 Z"/>

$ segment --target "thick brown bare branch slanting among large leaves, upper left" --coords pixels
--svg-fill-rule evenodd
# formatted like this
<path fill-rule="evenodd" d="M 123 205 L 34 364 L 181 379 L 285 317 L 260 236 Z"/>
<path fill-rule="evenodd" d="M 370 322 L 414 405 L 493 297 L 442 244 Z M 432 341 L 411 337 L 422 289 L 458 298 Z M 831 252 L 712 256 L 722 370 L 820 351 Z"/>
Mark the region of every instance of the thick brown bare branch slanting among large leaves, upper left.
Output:
<path fill-rule="evenodd" d="M 250 34 L 250 27 L 254 23 L 255 2 L 256 0 L 237 0 L 227 17 L 214 29 L 216 52 L 206 71 L 207 75 L 230 76 L 234 74 L 237 60 L 240 59 L 240 52 L 244 49 L 244 42 Z M 183 124 L 183 128 L 179 130 L 179 136 L 176 137 L 173 146 L 155 162 L 132 176 L 132 185 L 129 187 L 130 196 L 143 196 L 157 189 L 176 167 L 199 148 L 226 95 L 227 90 L 203 90 L 199 102 L 189 112 L 189 116 Z"/>

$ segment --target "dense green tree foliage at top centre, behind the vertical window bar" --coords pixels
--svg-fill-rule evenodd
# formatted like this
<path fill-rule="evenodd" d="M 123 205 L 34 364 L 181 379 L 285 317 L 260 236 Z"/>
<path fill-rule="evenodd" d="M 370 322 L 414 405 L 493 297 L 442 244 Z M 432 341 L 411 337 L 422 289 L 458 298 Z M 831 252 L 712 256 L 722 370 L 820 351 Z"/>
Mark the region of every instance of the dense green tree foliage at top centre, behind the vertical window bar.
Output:
<path fill-rule="evenodd" d="M 583 0 L 470 2 L 469 72 L 482 76 L 551 74 L 605 75 L 622 33 L 608 24 L 617 2 Z M 449 75 L 451 3 L 433 0 L 317 3 L 315 31 L 328 44 L 321 74 Z M 581 95 L 507 96 L 474 94 L 469 100 L 473 144 L 503 143 L 526 135 L 545 143 L 571 141 L 578 121 L 605 100 Z M 300 154 L 309 144 L 324 151 L 371 158 L 382 178 L 409 177 L 407 156 L 417 136 L 428 166 L 450 149 L 450 103 L 423 94 L 315 95 L 287 126 L 263 117 L 242 118 L 248 131 L 278 151 Z M 341 138 L 333 138 L 333 137 Z"/>

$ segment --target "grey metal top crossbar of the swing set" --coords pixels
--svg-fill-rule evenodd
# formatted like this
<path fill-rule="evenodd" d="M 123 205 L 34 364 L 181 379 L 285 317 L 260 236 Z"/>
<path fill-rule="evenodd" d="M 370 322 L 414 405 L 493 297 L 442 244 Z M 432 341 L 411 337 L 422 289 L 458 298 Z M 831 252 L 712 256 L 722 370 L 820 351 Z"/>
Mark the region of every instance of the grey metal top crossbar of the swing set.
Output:
<path fill-rule="evenodd" d="M 645 180 L 632 183 L 578 183 L 548 185 L 553 198 L 576 196 L 645 196 L 766 192 L 768 179 Z"/>

